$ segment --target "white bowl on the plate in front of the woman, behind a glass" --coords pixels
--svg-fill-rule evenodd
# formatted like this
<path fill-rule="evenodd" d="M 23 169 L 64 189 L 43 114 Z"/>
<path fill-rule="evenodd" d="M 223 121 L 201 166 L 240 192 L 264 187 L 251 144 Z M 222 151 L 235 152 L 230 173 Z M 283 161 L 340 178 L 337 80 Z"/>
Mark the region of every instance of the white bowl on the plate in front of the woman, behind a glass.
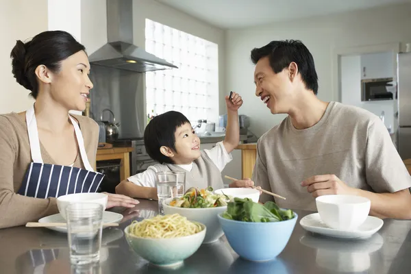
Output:
<path fill-rule="evenodd" d="M 66 206 L 71 203 L 100 203 L 103 205 L 103 210 L 107 206 L 108 196 L 104 193 L 73 193 L 63 195 L 57 198 L 57 207 L 64 220 L 66 219 Z"/>

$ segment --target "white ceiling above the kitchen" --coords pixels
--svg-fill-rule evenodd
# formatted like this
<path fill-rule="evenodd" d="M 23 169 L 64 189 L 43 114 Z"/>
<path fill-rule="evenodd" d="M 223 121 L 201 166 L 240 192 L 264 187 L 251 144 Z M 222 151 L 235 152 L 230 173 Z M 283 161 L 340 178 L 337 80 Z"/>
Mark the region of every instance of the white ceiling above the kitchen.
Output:
<path fill-rule="evenodd" d="M 156 0 L 223 29 L 251 27 L 410 0 Z"/>

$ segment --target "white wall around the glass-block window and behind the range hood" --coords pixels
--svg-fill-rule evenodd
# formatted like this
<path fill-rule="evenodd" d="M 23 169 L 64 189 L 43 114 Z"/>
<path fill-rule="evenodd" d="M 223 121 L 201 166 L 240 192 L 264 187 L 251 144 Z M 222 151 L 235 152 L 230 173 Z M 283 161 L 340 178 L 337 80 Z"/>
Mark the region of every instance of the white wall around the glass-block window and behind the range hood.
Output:
<path fill-rule="evenodd" d="M 82 42 L 88 54 L 93 53 L 107 42 L 105 3 L 105 0 L 82 1 Z M 216 43 L 219 46 L 220 101 L 224 102 L 223 98 L 227 92 L 224 90 L 225 32 L 223 29 L 212 27 L 188 14 L 153 0 L 134 0 L 133 11 L 134 44 L 138 47 L 145 47 L 146 18 Z M 225 102 L 223 105 L 220 103 L 219 110 L 220 113 L 226 112 Z"/>

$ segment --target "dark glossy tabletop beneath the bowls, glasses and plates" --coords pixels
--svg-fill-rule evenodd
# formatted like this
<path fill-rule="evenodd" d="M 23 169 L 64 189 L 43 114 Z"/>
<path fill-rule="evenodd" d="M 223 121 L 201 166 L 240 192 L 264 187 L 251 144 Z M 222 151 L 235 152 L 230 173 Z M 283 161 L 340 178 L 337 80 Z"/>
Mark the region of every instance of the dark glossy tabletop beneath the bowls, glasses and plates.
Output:
<path fill-rule="evenodd" d="M 114 209 L 121 212 L 121 209 Z M 34 273 L 33 262 L 43 251 L 48 262 L 36 273 L 410 273 L 411 221 L 385 220 L 382 229 L 368 240 L 336 240 L 315 236 L 297 221 L 288 245 L 277 260 L 265 263 L 238 258 L 223 236 L 218 242 L 202 245 L 184 266 L 175 271 L 158 269 L 129 249 L 123 229 L 135 219 L 158 212 L 156 201 L 140 200 L 125 214 L 119 228 L 103 230 L 99 266 L 74 268 L 69 264 L 66 234 L 45 228 L 0 229 L 0 273 Z M 311 212 L 296 211 L 299 218 Z M 4 214 L 4 212 L 3 212 Z M 50 256 L 54 250 L 55 260 Z M 32 252 L 30 252 L 32 251 Z M 41 256 L 40 256 L 41 261 Z"/>

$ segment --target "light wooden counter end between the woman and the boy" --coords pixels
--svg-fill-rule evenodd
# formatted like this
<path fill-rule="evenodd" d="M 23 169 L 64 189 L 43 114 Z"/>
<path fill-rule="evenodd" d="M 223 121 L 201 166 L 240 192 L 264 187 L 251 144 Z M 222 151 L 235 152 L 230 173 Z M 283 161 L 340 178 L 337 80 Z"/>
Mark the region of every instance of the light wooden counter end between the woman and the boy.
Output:
<path fill-rule="evenodd" d="M 129 152 L 133 150 L 133 147 L 112 147 L 111 149 L 97 149 L 96 162 L 103 160 L 120 159 L 120 179 L 121 181 L 123 181 L 130 177 Z"/>

